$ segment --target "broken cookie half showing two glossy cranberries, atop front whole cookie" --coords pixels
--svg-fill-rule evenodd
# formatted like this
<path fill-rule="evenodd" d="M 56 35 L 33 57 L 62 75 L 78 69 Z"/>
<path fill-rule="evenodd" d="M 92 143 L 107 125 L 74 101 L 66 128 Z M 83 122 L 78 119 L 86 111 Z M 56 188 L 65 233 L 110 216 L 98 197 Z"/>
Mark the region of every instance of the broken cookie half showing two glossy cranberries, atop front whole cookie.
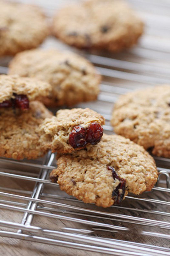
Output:
<path fill-rule="evenodd" d="M 71 153 L 97 144 L 103 135 L 104 117 L 89 108 L 58 110 L 56 116 L 41 124 L 41 141 L 45 148 L 58 153 Z"/>

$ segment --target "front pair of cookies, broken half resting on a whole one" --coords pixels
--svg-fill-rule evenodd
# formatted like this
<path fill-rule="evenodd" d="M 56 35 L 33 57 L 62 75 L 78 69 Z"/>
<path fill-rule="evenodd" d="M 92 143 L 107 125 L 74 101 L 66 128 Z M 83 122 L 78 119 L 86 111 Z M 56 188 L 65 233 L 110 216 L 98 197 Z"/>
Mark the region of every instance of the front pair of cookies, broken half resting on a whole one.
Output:
<path fill-rule="evenodd" d="M 142 146 L 118 135 L 103 135 L 104 118 L 86 109 L 59 110 L 39 127 L 42 145 L 57 152 L 50 178 L 86 203 L 109 207 L 128 192 L 150 191 L 156 180 L 154 159 Z"/>

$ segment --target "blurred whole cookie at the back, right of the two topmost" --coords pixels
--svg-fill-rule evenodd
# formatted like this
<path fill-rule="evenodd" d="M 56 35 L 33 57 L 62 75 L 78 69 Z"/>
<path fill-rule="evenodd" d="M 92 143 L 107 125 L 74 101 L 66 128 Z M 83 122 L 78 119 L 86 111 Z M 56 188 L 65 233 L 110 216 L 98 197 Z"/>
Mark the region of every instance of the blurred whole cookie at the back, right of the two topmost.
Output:
<path fill-rule="evenodd" d="M 53 19 L 53 34 L 86 49 L 117 52 L 136 44 L 143 22 L 121 0 L 90 0 L 66 6 Z"/>

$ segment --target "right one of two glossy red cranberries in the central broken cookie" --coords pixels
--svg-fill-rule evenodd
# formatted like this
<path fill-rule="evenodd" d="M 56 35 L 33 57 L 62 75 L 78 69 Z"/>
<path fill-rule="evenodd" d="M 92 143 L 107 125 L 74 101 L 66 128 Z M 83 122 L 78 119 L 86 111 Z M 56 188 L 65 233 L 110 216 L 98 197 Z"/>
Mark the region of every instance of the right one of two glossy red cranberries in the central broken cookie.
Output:
<path fill-rule="evenodd" d="M 87 128 L 87 142 L 90 142 L 91 145 L 96 145 L 103 136 L 103 128 L 99 123 L 91 123 Z"/>

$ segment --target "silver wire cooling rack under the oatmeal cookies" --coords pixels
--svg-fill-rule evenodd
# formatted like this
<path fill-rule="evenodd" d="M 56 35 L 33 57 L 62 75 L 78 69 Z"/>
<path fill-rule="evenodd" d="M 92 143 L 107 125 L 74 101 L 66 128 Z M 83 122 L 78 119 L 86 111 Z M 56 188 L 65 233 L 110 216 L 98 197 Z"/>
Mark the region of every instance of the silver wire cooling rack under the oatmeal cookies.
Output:
<path fill-rule="evenodd" d="M 61 2 L 37 4 L 51 15 Z M 111 111 L 120 94 L 170 80 L 169 1 L 129 2 L 146 23 L 139 45 L 119 54 L 79 52 L 103 75 L 98 101 L 79 106 L 101 113 L 106 133 L 112 133 Z M 54 38 L 42 45 L 49 46 L 66 47 Z M 1 59 L 1 73 L 7 73 L 7 62 Z M 48 174 L 56 166 L 53 153 L 35 161 L 0 158 L 0 236 L 89 253 L 170 255 L 170 159 L 155 160 L 159 178 L 151 192 L 129 194 L 120 206 L 103 209 L 68 196 L 49 181 Z"/>

